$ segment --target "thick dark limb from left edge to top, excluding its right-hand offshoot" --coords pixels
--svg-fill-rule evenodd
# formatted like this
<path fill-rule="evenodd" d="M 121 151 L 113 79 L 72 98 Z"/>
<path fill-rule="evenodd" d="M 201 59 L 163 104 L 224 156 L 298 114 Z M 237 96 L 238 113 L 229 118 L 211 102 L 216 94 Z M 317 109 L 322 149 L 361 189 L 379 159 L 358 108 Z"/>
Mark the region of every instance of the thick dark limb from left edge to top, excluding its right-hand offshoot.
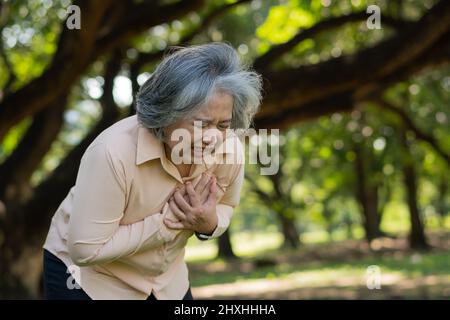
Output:
<path fill-rule="evenodd" d="M 95 41 L 95 32 L 109 2 L 79 0 L 83 12 L 83 27 L 69 30 L 62 23 L 58 49 L 44 73 L 21 89 L 6 95 L 0 103 L 0 141 L 17 122 L 51 105 L 67 93 L 74 81 L 91 63 L 88 60 Z"/>

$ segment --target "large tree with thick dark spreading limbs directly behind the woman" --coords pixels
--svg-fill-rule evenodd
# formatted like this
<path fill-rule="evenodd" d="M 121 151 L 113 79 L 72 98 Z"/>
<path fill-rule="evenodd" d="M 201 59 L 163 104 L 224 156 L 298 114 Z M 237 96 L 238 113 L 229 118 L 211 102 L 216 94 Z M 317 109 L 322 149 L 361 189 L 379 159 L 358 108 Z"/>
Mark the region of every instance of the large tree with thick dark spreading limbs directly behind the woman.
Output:
<path fill-rule="evenodd" d="M 132 114 L 132 108 L 117 107 L 114 79 L 128 74 L 136 89 L 138 76 L 151 70 L 168 44 L 219 39 L 218 26 L 227 35 L 224 40 L 233 39 L 235 46 L 243 39 L 249 44 L 256 39 L 255 45 L 247 46 L 250 63 L 265 79 L 256 128 L 286 129 L 299 121 L 350 111 L 425 68 L 447 63 L 450 57 L 450 3 L 445 0 L 431 8 L 415 4 L 420 16 L 415 20 L 406 13 L 392 14 L 391 6 L 383 8 L 382 12 L 390 13 L 382 17 L 386 32 L 368 34 L 356 47 L 352 39 L 367 19 L 361 5 L 343 13 L 346 10 L 340 4 L 322 7 L 313 1 L 309 6 L 299 0 L 287 4 L 264 1 L 261 8 L 249 0 L 76 0 L 72 4 L 80 7 L 82 26 L 69 30 L 64 18 L 56 14 L 67 9 L 63 3 L 51 1 L 45 8 L 37 0 L 1 2 L 0 199 L 6 214 L 0 218 L 5 239 L 0 245 L 0 273 L 8 279 L 3 292 L 25 286 L 20 275 L 12 273 L 12 266 L 27 248 L 40 246 L 51 215 L 75 181 L 90 141 Z M 268 40 L 264 32 L 255 35 L 256 28 L 263 28 L 260 20 L 269 34 L 285 34 L 277 29 L 280 21 L 271 14 L 275 11 L 282 12 L 278 20 L 291 11 L 300 18 L 287 19 L 284 25 L 291 31 L 281 41 Z M 245 32 L 227 33 L 236 25 Z M 22 36 L 14 30 L 21 30 Z M 336 47 L 344 53 L 316 59 L 311 51 L 330 51 L 338 43 L 335 40 L 345 38 L 341 30 L 350 34 L 346 45 Z M 317 47 L 312 49 L 311 41 Z M 102 98 L 88 98 L 99 100 L 100 114 L 87 122 L 88 132 L 75 145 L 61 142 L 67 133 L 65 115 L 89 95 L 86 79 L 100 75 Z M 58 143 L 64 148 L 54 151 Z M 45 165 L 50 153 L 59 153 L 59 164 L 51 169 Z M 41 178 L 34 184 L 37 172 Z"/>

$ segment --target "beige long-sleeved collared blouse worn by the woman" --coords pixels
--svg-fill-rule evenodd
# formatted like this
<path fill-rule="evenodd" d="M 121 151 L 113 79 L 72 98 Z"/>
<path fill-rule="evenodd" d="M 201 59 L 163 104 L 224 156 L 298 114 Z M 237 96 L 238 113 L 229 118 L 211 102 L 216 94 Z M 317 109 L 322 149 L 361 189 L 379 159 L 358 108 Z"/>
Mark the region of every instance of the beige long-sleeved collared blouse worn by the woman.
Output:
<path fill-rule="evenodd" d="M 75 186 L 54 214 L 44 248 L 60 258 L 92 299 L 182 299 L 189 288 L 184 252 L 193 235 L 172 230 L 175 187 L 212 168 L 218 226 L 229 226 L 244 179 L 243 147 L 230 134 L 212 163 L 193 164 L 182 178 L 163 143 L 136 116 L 103 131 L 84 153 Z M 76 289 L 74 289 L 76 290 Z"/>

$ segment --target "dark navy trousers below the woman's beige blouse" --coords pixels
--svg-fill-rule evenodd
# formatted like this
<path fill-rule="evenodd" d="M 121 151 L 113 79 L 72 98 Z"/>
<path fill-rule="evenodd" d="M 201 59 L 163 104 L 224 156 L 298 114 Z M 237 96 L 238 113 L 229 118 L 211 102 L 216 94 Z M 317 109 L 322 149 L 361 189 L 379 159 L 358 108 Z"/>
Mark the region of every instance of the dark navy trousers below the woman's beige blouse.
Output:
<path fill-rule="evenodd" d="M 67 267 L 58 257 L 44 249 L 44 297 L 46 300 L 92 300 L 83 289 L 73 287 Z M 69 288 L 69 285 L 72 284 Z M 147 300 L 157 300 L 153 293 Z M 191 288 L 183 300 L 193 300 Z"/>

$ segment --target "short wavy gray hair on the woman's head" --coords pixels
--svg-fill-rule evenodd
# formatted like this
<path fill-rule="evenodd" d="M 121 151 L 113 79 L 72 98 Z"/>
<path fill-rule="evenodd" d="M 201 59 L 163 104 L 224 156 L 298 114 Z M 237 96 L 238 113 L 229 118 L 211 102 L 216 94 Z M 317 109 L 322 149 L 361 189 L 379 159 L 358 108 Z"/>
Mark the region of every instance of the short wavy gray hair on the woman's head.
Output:
<path fill-rule="evenodd" d="M 225 91 L 233 97 L 231 128 L 248 129 L 261 104 L 261 76 L 225 43 L 176 49 L 139 89 L 138 121 L 163 140 L 165 127 L 197 112 L 216 91 Z"/>

